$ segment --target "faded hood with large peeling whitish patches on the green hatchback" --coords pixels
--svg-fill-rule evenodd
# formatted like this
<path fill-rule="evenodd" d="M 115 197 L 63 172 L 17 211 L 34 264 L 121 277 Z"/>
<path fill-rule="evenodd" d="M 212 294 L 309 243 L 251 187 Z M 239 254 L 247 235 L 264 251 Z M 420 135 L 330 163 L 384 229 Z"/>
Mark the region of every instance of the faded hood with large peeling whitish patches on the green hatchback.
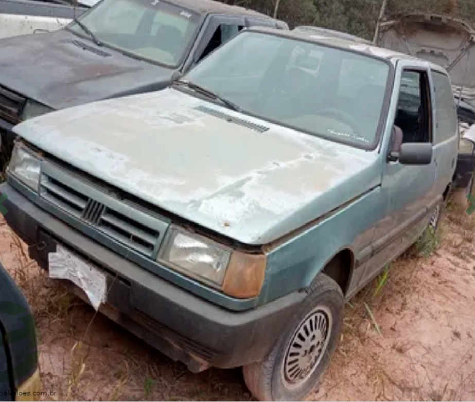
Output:
<path fill-rule="evenodd" d="M 172 88 L 54 112 L 14 132 L 77 169 L 251 245 L 302 227 L 380 180 L 377 152 Z"/>

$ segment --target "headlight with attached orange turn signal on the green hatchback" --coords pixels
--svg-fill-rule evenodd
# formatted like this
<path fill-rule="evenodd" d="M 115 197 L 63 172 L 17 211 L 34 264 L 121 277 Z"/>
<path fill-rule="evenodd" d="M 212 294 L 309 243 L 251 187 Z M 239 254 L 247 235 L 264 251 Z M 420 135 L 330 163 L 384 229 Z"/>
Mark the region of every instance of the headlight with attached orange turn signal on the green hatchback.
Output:
<path fill-rule="evenodd" d="M 235 251 L 175 226 L 169 229 L 159 260 L 241 299 L 259 295 L 267 263 L 263 254 Z"/>

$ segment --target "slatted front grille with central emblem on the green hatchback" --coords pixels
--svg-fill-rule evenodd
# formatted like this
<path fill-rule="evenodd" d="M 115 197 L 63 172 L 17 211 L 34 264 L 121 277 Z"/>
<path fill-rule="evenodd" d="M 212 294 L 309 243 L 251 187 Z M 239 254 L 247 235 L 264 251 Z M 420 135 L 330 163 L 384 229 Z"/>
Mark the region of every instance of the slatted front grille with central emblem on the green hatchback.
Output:
<path fill-rule="evenodd" d="M 64 181 L 43 172 L 40 182 L 41 197 L 115 241 L 153 257 L 155 245 L 164 234 L 156 229 L 156 224 L 145 225 L 143 222 L 137 222 L 114 206 L 107 205 L 107 202 L 99 202 L 76 186 L 65 184 Z M 115 203 L 117 202 L 116 200 Z M 133 207 L 124 205 L 123 208 L 129 208 L 130 215 L 133 214 Z"/>

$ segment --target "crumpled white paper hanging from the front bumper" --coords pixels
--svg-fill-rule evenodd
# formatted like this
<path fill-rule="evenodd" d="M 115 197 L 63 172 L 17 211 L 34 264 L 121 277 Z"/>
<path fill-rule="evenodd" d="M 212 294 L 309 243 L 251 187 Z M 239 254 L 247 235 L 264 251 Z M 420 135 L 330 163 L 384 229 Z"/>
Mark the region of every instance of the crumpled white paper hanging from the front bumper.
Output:
<path fill-rule="evenodd" d="M 56 252 L 48 254 L 48 262 L 50 278 L 67 279 L 79 286 L 96 310 L 105 302 L 107 279 L 92 264 L 59 245 Z"/>

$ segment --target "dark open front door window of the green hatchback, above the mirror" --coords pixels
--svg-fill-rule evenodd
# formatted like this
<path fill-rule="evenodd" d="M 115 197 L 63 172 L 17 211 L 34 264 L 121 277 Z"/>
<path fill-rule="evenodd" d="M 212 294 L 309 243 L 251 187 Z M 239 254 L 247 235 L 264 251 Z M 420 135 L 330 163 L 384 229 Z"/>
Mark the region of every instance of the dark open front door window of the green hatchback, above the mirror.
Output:
<path fill-rule="evenodd" d="M 394 122 L 402 131 L 402 142 L 431 142 L 431 116 L 427 73 L 403 71 Z"/>

